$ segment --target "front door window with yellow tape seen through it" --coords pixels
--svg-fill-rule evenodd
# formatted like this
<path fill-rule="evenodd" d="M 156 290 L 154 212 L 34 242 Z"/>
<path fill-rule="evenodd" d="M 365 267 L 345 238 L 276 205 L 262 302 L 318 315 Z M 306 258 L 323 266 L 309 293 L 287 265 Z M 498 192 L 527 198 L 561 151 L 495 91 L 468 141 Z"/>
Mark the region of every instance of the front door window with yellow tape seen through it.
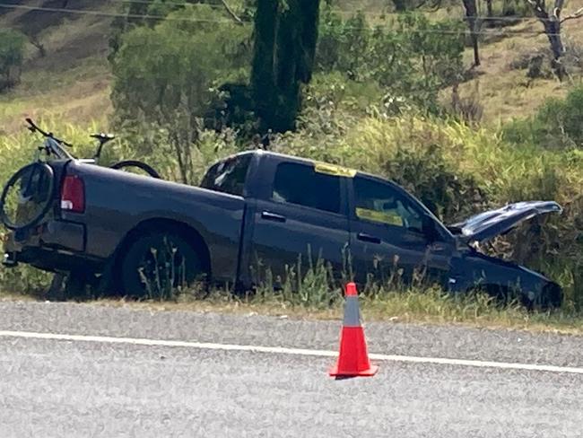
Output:
<path fill-rule="evenodd" d="M 390 185 L 356 177 L 354 197 L 359 218 L 422 232 L 422 212 Z"/>

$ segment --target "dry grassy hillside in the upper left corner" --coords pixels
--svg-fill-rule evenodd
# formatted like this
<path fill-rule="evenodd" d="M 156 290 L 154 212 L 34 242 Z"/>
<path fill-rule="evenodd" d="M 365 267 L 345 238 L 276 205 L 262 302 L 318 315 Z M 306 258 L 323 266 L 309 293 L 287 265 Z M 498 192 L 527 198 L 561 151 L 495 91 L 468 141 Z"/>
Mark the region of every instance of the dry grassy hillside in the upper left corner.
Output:
<path fill-rule="evenodd" d="M 116 4 L 102 0 L 77 0 L 74 7 L 104 13 L 117 10 Z M 36 35 L 46 55 L 40 57 L 38 48 L 27 46 L 22 83 L 0 94 L 0 133 L 19 129 L 26 116 L 63 118 L 71 123 L 105 121 L 110 110 L 107 54 L 111 21 L 111 17 L 81 13 L 4 10 L 0 27 Z"/>

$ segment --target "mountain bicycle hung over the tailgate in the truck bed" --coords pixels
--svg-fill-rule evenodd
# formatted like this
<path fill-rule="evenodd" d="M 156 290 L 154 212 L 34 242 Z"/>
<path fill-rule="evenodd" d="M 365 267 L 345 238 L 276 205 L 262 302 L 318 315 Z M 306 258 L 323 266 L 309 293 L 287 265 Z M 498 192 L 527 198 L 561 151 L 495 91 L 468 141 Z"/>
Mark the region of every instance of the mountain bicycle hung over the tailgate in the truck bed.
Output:
<path fill-rule="evenodd" d="M 92 134 L 91 138 L 98 141 L 97 150 L 92 158 L 77 159 L 66 148 L 73 145 L 65 142 L 53 133 L 37 126 L 32 119 L 26 118 L 28 129 L 34 134 L 45 138 L 34 154 L 33 162 L 24 166 L 8 180 L 0 197 L 0 220 L 4 226 L 14 232 L 30 229 L 40 223 L 48 214 L 56 189 L 55 174 L 48 164 L 51 160 L 76 160 L 78 162 L 100 165 L 100 155 L 103 146 L 115 139 L 115 136 L 105 133 Z M 136 160 L 124 160 L 109 166 L 111 169 L 124 171 L 138 169 L 152 178 L 160 179 L 160 174 L 152 166 Z M 13 190 L 15 188 L 15 190 Z"/>

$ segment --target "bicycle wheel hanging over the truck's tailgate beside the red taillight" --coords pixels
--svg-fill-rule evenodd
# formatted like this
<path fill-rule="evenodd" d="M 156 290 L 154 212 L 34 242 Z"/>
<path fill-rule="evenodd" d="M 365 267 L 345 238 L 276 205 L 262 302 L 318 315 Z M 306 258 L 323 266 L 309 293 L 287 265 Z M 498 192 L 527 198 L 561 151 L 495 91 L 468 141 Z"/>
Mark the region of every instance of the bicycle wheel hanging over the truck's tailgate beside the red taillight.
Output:
<path fill-rule="evenodd" d="M 0 197 L 0 219 L 6 228 L 20 230 L 38 224 L 52 205 L 55 175 L 44 162 L 24 166 L 8 180 Z"/>

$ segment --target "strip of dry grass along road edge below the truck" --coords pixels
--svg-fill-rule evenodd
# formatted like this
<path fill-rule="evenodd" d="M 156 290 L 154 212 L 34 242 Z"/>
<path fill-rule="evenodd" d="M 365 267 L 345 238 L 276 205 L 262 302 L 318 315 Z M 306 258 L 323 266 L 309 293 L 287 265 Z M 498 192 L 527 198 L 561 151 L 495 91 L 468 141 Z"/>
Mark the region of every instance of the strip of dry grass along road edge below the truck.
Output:
<path fill-rule="evenodd" d="M 0 293 L 0 302 L 37 299 L 30 294 Z M 513 329 L 534 333 L 583 335 L 583 315 L 577 312 L 529 312 L 518 305 L 500 308 L 485 296 L 454 299 L 433 292 L 386 293 L 379 298 L 361 297 L 361 316 L 366 322 L 457 325 L 480 329 Z M 126 301 L 97 299 L 83 301 L 91 305 L 124 307 L 135 311 L 196 311 L 267 315 L 291 320 L 342 320 L 343 303 L 337 301 L 326 308 L 307 307 L 287 302 L 274 294 L 267 298 L 236 297 L 230 293 L 213 293 L 203 299 L 188 296 L 177 301 Z"/>

